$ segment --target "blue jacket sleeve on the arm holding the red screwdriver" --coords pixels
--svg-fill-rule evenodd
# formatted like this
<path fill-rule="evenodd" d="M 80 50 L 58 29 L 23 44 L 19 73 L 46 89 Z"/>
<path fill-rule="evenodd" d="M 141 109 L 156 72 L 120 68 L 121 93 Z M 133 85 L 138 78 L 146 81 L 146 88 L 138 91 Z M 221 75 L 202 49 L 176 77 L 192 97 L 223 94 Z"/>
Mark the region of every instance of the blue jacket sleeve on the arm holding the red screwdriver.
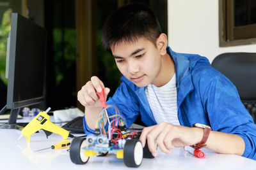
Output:
<path fill-rule="evenodd" d="M 118 109 L 120 115 L 125 119 L 126 127 L 130 127 L 139 115 L 138 99 L 134 97 L 134 91 L 130 87 L 127 87 L 124 82 L 120 84 L 113 97 L 109 97 L 106 103 L 107 105 L 115 106 Z M 109 116 L 116 114 L 114 108 L 108 108 L 107 111 Z M 105 127 L 108 127 L 108 123 Z M 88 127 L 85 118 L 84 132 L 87 135 L 95 132 Z"/>

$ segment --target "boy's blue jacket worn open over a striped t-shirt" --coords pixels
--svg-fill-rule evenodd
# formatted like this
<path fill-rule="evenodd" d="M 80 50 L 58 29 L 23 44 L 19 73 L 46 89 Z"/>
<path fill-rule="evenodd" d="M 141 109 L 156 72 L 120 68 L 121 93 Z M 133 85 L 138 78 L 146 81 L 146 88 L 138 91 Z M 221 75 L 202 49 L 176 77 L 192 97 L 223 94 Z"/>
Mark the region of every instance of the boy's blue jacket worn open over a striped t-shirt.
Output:
<path fill-rule="evenodd" d="M 244 108 L 236 87 L 223 74 L 211 67 L 209 60 L 195 54 L 176 53 L 167 48 L 175 64 L 177 110 L 180 125 L 210 125 L 213 131 L 237 134 L 244 139 L 244 157 L 256 160 L 256 125 Z M 145 95 L 145 87 L 137 87 L 124 76 L 107 104 L 116 106 L 129 127 L 138 117 L 145 125 L 156 125 Z M 115 113 L 113 110 L 108 114 Z M 86 125 L 86 134 L 94 132 Z"/>

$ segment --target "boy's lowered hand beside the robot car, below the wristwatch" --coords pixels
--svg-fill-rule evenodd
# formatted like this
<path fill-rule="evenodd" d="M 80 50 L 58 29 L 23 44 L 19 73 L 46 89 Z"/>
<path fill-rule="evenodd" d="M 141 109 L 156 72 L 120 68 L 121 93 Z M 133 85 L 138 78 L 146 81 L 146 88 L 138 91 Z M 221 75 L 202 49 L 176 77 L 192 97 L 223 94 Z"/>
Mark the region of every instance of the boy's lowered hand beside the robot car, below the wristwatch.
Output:
<path fill-rule="evenodd" d="M 170 149 L 194 145 L 199 143 L 203 137 L 204 130 L 198 127 L 184 127 L 172 125 L 166 122 L 145 127 L 141 133 L 140 141 L 145 146 L 147 140 L 148 149 L 157 156 L 156 145 L 164 153 L 170 153 Z"/>

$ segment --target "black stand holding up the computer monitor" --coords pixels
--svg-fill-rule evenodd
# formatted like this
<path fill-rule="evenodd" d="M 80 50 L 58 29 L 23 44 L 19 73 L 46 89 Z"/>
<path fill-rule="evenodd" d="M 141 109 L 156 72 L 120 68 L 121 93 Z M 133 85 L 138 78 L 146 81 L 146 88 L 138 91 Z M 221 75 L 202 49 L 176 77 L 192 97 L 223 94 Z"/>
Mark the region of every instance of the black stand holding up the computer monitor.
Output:
<path fill-rule="evenodd" d="M 11 113 L 10 113 L 10 118 L 8 120 L 8 123 L 0 125 L 0 129 L 19 129 L 19 130 L 22 130 L 24 127 L 16 124 L 16 120 L 17 120 L 19 112 L 20 112 L 20 108 L 12 109 Z"/>

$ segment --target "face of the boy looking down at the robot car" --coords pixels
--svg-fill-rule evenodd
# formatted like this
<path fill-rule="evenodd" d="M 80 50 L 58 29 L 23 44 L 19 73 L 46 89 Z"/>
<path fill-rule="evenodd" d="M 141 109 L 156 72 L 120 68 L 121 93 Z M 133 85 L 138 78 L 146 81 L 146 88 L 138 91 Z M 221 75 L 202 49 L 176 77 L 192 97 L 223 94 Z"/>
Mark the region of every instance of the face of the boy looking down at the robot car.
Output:
<path fill-rule="evenodd" d="M 151 41 L 140 38 L 136 42 L 122 42 L 112 46 L 111 51 L 116 66 L 128 80 L 138 87 L 157 84 L 161 55 Z"/>

